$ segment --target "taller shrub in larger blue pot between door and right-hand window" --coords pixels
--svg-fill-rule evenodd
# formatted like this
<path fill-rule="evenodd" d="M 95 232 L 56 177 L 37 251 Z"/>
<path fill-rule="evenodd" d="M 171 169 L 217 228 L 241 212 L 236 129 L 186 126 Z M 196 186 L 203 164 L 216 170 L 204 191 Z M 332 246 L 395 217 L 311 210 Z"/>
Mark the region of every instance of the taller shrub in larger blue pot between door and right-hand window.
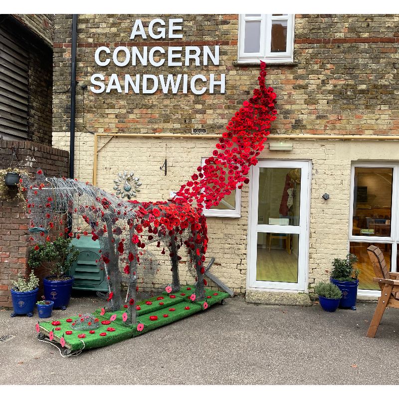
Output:
<path fill-rule="evenodd" d="M 356 310 L 360 270 L 354 269 L 353 264 L 357 261 L 357 256 L 348 253 L 345 259 L 335 258 L 332 263 L 333 269 L 331 270 L 330 280 L 342 291 L 339 304 L 342 309 Z"/>

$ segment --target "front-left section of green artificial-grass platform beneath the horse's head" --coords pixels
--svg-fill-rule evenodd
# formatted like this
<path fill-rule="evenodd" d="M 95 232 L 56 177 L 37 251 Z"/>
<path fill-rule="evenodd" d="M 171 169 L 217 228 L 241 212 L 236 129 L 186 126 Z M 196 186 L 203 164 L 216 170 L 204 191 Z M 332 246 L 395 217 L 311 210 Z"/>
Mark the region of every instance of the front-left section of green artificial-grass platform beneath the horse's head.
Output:
<path fill-rule="evenodd" d="M 77 316 L 75 316 L 76 318 Z M 110 324 L 101 324 L 102 320 L 105 320 L 101 316 L 98 318 L 100 320 L 100 327 L 96 328 L 94 334 L 90 334 L 88 330 L 73 330 L 71 328 L 71 323 L 68 323 L 66 319 L 58 319 L 61 324 L 58 326 L 53 326 L 51 322 L 39 322 L 40 330 L 42 333 L 48 336 L 48 333 L 55 329 L 55 327 L 60 327 L 60 331 L 54 330 L 54 341 L 59 342 L 64 334 L 65 346 L 72 351 L 78 349 L 89 349 L 98 348 L 102 346 L 107 346 L 115 344 L 116 342 L 124 341 L 128 338 L 133 337 L 132 330 L 130 328 L 121 326 L 116 322 L 111 322 Z M 107 331 L 107 328 L 115 328 L 115 331 Z M 72 331 L 71 335 L 65 334 L 65 331 Z M 106 336 L 100 336 L 100 333 L 106 333 Z M 78 334 L 85 334 L 85 338 L 78 338 Z M 84 345 L 83 345 L 83 342 Z"/>

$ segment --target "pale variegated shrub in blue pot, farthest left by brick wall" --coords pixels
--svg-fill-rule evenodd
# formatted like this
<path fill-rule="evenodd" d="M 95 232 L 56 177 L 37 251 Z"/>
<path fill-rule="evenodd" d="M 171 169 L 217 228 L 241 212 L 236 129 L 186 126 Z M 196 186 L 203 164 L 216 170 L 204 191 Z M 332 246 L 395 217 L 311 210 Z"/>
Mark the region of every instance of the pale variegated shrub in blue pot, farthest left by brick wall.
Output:
<path fill-rule="evenodd" d="M 23 278 L 18 273 L 16 281 L 11 280 L 13 287 L 11 291 L 12 307 L 14 311 L 11 317 L 16 315 L 33 316 L 33 308 L 36 302 L 37 292 L 39 290 L 39 279 L 34 275 L 33 270 L 30 272 L 29 277 Z"/>

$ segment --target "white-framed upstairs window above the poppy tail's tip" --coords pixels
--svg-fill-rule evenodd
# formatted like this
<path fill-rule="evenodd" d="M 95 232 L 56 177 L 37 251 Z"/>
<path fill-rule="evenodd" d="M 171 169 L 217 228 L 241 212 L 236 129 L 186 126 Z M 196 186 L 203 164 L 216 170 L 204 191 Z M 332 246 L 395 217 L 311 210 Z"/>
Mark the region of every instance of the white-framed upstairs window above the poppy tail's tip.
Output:
<path fill-rule="evenodd" d="M 239 14 L 238 63 L 293 62 L 295 14 Z"/>

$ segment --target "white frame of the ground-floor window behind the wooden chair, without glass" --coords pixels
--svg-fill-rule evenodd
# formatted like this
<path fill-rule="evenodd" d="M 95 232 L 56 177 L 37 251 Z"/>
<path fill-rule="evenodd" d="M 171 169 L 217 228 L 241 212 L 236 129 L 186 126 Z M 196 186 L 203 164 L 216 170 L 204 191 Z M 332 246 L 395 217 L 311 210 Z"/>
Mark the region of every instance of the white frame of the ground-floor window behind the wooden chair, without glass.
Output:
<path fill-rule="evenodd" d="M 391 236 L 381 237 L 373 235 L 353 235 L 353 206 L 354 206 L 354 190 L 355 190 L 355 168 L 393 168 L 392 176 L 392 203 L 391 203 Z M 349 208 L 349 235 L 348 235 L 348 252 L 350 243 L 352 242 L 374 242 L 391 244 L 391 270 L 396 272 L 397 265 L 397 251 L 399 244 L 399 212 L 397 211 L 399 200 L 399 164 L 394 162 L 377 163 L 353 163 L 351 167 L 351 196 Z M 364 296 L 377 297 L 381 296 L 380 290 L 363 290 L 359 289 L 359 294 Z"/>

